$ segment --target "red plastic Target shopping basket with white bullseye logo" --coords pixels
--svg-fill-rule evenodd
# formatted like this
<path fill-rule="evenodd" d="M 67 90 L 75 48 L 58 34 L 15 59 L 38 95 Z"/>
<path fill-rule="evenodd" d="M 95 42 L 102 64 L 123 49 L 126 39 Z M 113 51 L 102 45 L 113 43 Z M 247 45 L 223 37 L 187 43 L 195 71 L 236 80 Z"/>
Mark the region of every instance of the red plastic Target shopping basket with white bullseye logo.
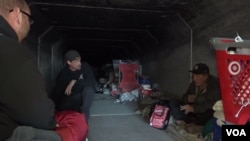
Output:
<path fill-rule="evenodd" d="M 250 119 L 250 40 L 212 38 L 216 49 L 225 119 L 246 124 Z"/>

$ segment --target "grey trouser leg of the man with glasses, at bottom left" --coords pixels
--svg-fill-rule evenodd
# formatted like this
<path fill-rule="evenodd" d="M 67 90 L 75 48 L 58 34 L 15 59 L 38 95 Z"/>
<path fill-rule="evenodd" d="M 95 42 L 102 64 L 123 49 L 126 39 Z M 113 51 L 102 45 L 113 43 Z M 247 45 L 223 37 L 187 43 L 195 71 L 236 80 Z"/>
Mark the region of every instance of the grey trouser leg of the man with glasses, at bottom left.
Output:
<path fill-rule="evenodd" d="M 5 141 L 62 141 L 53 130 L 37 129 L 30 126 L 18 126 L 11 137 Z"/>

